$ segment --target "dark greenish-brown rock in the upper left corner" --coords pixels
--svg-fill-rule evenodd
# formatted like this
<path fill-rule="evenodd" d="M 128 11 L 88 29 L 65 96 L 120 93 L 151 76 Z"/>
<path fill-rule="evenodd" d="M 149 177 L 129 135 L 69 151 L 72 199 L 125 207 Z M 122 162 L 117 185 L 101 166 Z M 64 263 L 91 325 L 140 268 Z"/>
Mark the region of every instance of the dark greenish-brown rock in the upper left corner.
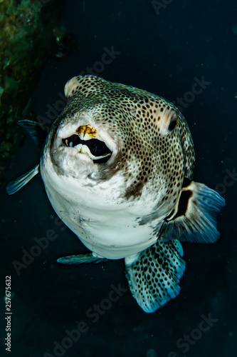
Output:
<path fill-rule="evenodd" d="M 75 48 L 73 35 L 59 27 L 64 5 L 65 0 L 0 1 L 0 184 L 22 138 L 16 123 L 28 114 L 43 65 L 49 56 L 63 58 Z"/>

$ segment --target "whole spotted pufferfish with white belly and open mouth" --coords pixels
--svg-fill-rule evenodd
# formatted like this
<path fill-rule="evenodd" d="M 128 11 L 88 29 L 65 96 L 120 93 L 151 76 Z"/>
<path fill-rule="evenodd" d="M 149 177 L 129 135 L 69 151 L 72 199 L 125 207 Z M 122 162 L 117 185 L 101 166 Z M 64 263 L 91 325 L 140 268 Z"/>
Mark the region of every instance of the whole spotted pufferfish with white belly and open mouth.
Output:
<path fill-rule="evenodd" d="M 192 181 L 194 144 L 171 102 L 92 75 L 70 79 L 65 96 L 40 164 L 7 191 L 40 171 L 53 209 L 91 252 L 58 261 L 125 258 L 132 296 L 154 312 L 179 294 L 181 241 L 215 242 L 225 201 Z M 37 124 L 20 124 L 39 141 Z"/>

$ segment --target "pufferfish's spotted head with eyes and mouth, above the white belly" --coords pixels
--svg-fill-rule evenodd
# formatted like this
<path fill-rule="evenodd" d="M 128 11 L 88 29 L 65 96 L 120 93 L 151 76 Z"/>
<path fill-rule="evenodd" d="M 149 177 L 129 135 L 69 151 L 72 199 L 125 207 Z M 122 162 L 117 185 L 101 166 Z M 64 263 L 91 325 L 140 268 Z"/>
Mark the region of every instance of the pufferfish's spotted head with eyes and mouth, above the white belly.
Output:
<path fill-rule="evenodd" d="M 93 187 L 106 202 L 170 211 L 194 164 L 191 134 L 174 104 L 92 75 L 70 79 L 65 96 L 41 167 L 50 162 L 57 180 Z"/>

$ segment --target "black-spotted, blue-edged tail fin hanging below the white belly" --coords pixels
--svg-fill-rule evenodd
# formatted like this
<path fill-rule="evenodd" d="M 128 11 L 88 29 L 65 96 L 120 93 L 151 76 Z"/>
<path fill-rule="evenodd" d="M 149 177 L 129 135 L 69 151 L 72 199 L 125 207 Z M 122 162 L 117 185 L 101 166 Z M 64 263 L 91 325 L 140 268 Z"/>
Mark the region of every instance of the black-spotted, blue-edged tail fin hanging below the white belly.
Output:
<path fill-rule="evenodd" d="M 179 278 L 185 270 L 180 253 L 179 241 L 157 241 L 145 251 L 125 258 L 132 296 L 145 312 L 156 311 L 179 294 Z"/>

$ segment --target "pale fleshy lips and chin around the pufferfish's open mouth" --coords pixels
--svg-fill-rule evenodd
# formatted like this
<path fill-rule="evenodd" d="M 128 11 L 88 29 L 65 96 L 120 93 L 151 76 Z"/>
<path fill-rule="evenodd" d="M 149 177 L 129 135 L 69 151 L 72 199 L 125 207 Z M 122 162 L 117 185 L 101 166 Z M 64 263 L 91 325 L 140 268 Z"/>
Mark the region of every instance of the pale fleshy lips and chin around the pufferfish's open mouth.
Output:
<path fill-rule="evenodd" d="M 97 180 L 106 178 L 104 171 L 115 167 L 118 147 L 104 125 L 88 120 L 74 124 L 69 121 L 58 127 L 52 154 L 56 165 L 68 174 Z"/>

